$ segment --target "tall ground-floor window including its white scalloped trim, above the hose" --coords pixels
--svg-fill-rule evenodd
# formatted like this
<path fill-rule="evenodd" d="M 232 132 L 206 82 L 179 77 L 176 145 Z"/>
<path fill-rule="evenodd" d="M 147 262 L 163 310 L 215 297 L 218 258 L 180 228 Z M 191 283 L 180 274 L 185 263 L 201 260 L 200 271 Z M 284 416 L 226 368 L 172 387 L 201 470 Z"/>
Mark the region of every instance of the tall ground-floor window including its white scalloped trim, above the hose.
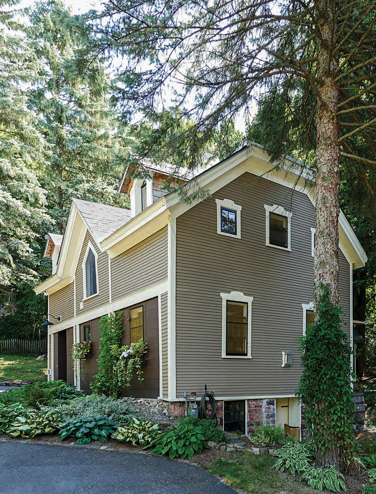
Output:
<path fill-rule="evenodd" d="M 239 291 L 221 293 L 222 358 L 250 359 L 253 297 Z"/>

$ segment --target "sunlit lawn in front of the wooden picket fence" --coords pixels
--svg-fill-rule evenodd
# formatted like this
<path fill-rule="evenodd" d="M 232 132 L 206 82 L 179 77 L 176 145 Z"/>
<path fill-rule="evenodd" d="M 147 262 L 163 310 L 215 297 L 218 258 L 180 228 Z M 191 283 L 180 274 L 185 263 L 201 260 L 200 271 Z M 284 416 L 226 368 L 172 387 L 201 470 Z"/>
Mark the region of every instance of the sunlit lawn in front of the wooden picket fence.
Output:
<path fill-rule="evenodd" d="M 47 375 L 47 361 L 35 355 L 0 355 L 0 381 L 40 381 Z"/>

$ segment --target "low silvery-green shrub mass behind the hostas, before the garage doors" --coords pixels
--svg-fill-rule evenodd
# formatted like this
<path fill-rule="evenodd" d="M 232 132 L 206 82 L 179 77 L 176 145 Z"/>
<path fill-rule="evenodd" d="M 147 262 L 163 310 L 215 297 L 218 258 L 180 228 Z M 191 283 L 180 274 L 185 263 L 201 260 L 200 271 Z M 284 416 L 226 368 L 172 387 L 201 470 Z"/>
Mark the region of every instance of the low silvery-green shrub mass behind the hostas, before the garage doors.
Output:
<path fill-rule="evenodd" d="M 124 403 L 121 400 L 113 400 L 104 395 L 75 398 L 68 403 L 60 403 L 57 407 L 41 407 L 41 410 L 54 410 L 65 421 L 80 417 L 103 415 L 106 418 L 123 423 L 126 420 L 126 416 L 134 414 L 134 411 L 130 408 L 130 404 Z"/>

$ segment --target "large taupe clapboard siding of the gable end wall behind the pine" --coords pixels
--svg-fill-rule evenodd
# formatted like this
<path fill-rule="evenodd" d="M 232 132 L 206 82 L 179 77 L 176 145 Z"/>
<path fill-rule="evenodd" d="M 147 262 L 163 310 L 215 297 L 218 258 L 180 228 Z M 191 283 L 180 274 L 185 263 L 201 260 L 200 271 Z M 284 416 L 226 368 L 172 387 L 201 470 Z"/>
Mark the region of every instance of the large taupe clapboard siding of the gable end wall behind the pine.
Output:
<path fill-rule="evenodd" d="M 294 394 L 301 374 L 297 337 L 302 303 L 312 301 L 311 231 L 314 207 L 305 194 L 246 173 L 177 219 L 177 396 Z M 241 239 L 217 234 L 215 199 L 242 206 Z M 291 252 L 265 246 L 265 209 L 282 205 L 293 213 Z M 348 266 L 348 265 L 347 265 Z M 343 269 L 346 274 L 344 275 Z M 348 267 L 341 254 L 341 298 L 349 299 Z M 252 359 L 222 359 L 221 292 L 253 296 Z M 293 366 L 281 367 L 282 350 Z"/>

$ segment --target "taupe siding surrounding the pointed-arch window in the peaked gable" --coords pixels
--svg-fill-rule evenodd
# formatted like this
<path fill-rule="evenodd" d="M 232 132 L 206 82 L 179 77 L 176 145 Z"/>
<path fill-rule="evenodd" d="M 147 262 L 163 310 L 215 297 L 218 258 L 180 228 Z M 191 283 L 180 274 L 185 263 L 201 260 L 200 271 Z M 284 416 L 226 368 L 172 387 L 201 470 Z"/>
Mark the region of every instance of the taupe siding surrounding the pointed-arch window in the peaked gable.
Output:
<path fill-rule="evenodd" d="M 87 245 L 91 242 L 98 254 L 98 295 L 84 300 L 83 309 L 79 308 L 80 302 L 83 300 L 83 270 L 82 262 L 85 257 Z M 110 301 L 110 280 L 109 280 L 109 256 L 107 252 L 101 252 L 89 232 L 86 232 L 85 240 L 82 245 L 79 255 L 77 269 L 75 272 L 75 290 L 76 290 L 76 315 L 79 316 L 90 310 L 96 309 L 109 303 Z"/>

